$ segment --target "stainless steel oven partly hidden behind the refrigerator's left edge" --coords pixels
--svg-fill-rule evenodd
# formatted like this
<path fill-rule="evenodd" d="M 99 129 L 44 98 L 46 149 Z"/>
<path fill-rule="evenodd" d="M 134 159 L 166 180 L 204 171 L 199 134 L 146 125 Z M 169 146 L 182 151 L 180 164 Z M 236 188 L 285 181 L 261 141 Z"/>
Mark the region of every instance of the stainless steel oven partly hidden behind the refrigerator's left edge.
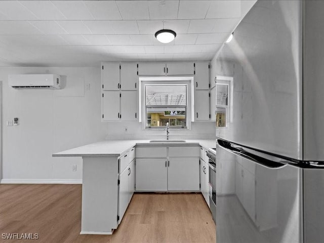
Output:
<path fill-rule="evenodd" d="M 209 157 L 209 202 L 213 220 L 216 223 L 216 153 L 211 150 L 207 153 Z"/>

